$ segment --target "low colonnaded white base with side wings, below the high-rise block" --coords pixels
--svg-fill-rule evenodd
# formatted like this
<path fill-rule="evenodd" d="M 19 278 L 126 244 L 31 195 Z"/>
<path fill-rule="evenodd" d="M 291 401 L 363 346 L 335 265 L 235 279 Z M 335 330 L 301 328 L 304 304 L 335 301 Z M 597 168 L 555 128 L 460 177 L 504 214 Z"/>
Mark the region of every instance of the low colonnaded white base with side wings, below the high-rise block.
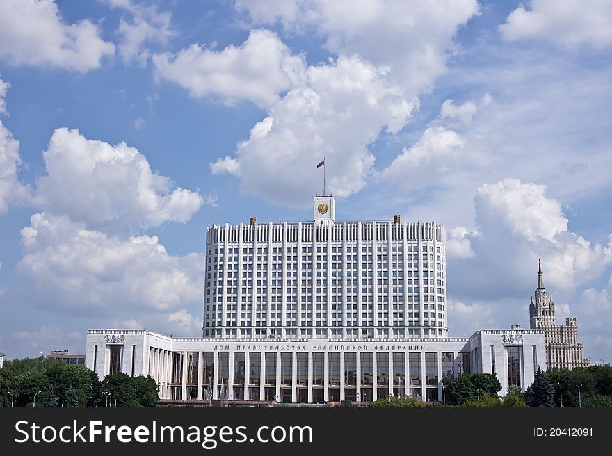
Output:
<path fill-rule="evenodd" d="M 526 389 L 545 357 L 530 329 L 481 330 L 469 338 L 203 339 L 150 331 L 90 330 L 86 365 L 99 377 L 150 375 L 168 400 L 369 402 L 446 400 L 462 373 L 494 373 Z"/>

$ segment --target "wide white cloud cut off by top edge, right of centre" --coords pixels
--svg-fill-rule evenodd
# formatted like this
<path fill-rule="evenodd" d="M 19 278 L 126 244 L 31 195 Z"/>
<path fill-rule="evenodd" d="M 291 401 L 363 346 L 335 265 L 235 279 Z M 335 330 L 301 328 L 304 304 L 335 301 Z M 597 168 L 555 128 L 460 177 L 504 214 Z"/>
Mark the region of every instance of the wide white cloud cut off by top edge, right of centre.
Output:
<path fill-rule="evenodd" d="M 445 70 L 446 51 L 459 26 L 478 14 L 476 0 L 300 0 L 280 7 L 261 0 L 239 0 L 254 22 L 279 21 L 291 33 L 311 33 L 326 39 L 339 56 L 359 55 L 377 66 L 389 66 L 389 78 L 412 98 L 432 87 Z"/>

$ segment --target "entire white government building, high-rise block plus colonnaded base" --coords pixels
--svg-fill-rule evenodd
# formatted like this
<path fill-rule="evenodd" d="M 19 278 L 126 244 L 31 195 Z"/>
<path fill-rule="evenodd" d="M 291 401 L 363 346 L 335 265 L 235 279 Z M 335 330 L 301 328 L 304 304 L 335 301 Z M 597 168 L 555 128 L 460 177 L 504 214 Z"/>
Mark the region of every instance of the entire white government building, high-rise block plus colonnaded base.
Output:
<path fill-rule="evenodd" d="M 448 336 L 444 225 L 336 222 L 332 195 L 311 222 L 209 227 L 202 338 L 87 332 L 99 377 L 151 375 L 161 399 L 444 401 L 461 373 L 526 389 L 545 367 L 544 332 Z"/>

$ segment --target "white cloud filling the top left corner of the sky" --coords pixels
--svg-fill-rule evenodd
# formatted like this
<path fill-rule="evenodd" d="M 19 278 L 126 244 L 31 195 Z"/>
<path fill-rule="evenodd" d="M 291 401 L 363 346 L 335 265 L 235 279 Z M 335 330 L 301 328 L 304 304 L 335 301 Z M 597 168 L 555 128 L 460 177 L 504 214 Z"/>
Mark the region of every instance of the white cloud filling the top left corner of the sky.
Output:
<path fill-rule="evenodd" d="M 114 52 L 89 19 L 66 24 L 54 0 L 0 2 L 0 58 L 10 64 L 86 73 Z"/>

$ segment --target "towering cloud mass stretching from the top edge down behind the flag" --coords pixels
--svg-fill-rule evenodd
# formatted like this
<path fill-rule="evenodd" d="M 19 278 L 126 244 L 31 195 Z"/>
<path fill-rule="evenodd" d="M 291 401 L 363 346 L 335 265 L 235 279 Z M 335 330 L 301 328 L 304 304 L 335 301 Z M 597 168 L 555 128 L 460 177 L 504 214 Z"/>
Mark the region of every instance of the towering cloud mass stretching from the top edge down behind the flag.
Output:
<path fill-rule="evenodd" d="M 289 206 L 305 206 L 319 190 L 321 170 L 313 163 L 323 156 L 337 197 L 363 188 L 374 163 L 368 145 L 382 131 L 405 126 L 419 95 L 446 70 L 458 27 L 478 13 L 472 0 L 444 8 L 417 1 L 362 1 L 358 8 L 348 1 L 290 1 L 271 8 L 245 0 L 236 8 L 255 24 L 314 30 L 336 56 L 307 68 L 239 143 L 237 156 L 211 163 L 215 174 L 239 176 L 243 192 Z"/>

